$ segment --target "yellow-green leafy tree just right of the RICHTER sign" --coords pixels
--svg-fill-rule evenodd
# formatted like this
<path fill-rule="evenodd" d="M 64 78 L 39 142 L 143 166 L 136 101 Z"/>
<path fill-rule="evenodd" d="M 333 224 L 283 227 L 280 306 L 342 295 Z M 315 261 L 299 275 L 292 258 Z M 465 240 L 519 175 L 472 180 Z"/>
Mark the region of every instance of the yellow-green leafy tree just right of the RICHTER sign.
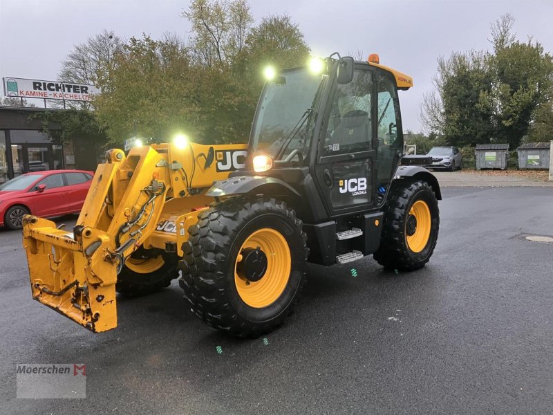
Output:
<path fill-rule="evenodd" d="M 197 80 L 180 42 L 132 37 L 100 83 L 95 114 L 111 142 L 119 144 L 135 135 L 167 141 L 180 131 L 196 138 L 205 127 Z"/>

